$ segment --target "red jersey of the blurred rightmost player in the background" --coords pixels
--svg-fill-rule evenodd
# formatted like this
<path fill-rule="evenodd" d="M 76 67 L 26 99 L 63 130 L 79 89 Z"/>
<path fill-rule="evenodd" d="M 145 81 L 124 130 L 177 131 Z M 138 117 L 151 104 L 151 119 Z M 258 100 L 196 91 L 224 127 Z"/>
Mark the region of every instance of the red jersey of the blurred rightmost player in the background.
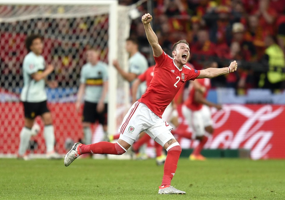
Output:
<path fill-rule="evenodd" d="M 209 92 L 209 90 L 210 90 L 210 88 L 211 88 L 211 81 L 210 81 L 210 79 L 208 79 L 208 78 L 203 78 L 203 79 L 198 79 L 197 81 L 198 81 L 202 86 L 204 86 L 204 87 L 206 88 L 206 91 L 205 91 L 205 93 L 203 94 L 203 97 L 206 98 L 207 95 L 208 95 L 208 92 Z M 200 110 L 200 109 L 202 108 L 203 104 L 196 102 L 195 99 L 194 99 L 194 96 L 195 96 L 195 89 L 194 89 L 194 87 L 192 86 L 192 87 L 190 88 L 190 91 L 189 91 L 189 97 L 188 97 L 188 99 L 185 101 L 184 104 L 185 104 L 189 109 L 191 109 L 191 110 L 193 110 L 193 111 L 197 111 L 197 110 Z"/>

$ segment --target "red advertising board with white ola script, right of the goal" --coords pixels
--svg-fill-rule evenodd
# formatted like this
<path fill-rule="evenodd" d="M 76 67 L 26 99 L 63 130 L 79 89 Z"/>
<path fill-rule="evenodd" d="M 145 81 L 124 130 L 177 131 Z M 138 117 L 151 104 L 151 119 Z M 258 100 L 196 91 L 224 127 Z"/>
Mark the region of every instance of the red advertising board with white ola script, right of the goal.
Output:
<path fill-rule="evenodd" d="M 177 132 L 191 132 L 181 106 L 178 113 L 182 123 Z M 223 105 L 222 110 L 212 109 L 212 119 L 215 131 L 205 148 L 248 149 L 252 159 L 285 158 L 284 105 Z M 189 142 L 190 148 L 196 145 Z"/>

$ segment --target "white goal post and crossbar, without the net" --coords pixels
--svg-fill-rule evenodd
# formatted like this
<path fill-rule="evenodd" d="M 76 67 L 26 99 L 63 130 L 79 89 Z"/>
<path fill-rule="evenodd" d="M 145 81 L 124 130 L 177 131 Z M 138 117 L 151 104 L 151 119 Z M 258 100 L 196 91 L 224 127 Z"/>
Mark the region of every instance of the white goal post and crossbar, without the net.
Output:
<path fill-rule="evenodd" d="M 112 66 L 113 60 L 118 59 L 120 65 L 127 70 L 128 55 L 125 51 L 125 40 L 129 36 L 130 23 L 129 9 L 130 7 L 118 5 L 117 0 L 0 0 L 1 5 L 8 6 L 38 6 L 40 11 L 41 7 L 44 6 L 66 6 L 73 7 L 69 11 L 65 9 L 65 12 L 43 12 L 37 13 L 39 17 L 42 18 L 73 18 L 88 15 L 97 15 L 105 12 L 104 10 L 94 9 L 93 6 L 106 6 L 108 7 L 108 28 L 107 28 L 107 62 L 109 65 L 109 90 L 108 90 L 108 132 L 109 134 L 117 133 L 118 128 L 118 102 L 120 102 L 121 107 L 129 106 L 129 84 L 125 82 L 120 76 L 118 76 L 117 71 Z M 78 12 L 76 7 L 84 7 L 86 11 Z M 86 6 L 90 6 L 90 10 L 86 9 Z M 92 9 L 93 8 L 93 9 Z M 52 9 L 50 9 L 52 10 Z M 102 11 L 102 13 L 100 13 Z M 75 13 L 76 12 L 76 13 Z M 96 12 L 96 13 L 94 13 Z M 13 22 L 17 20 L 24 20 L 26 18 L 37 18 L 35 13 L 18 13 L 13 16 L 1 16 L 0 13 L 0 23 L 2 22 Z M 102 36 L 104 38 L 104 36 Z M 81 67 L 81 66 L 80 66 Z M 119 84 L 119 85 L 118 85 Z M 118 94 L 120 93 L 120 94 Z M 122 95 L 123 94 L 123 95 Z M 119 96 L 119 97 L 118 97 Z M 123 99 L 122 99 L 123 97 Z M 125 109 L 125 108 L 124 108 Z M 121 110 L 124 110 L 121 108 Z M 119 111 L 120 112 L 120 111 Z M 124 111 L 121 111 L 124 112 Z"/>

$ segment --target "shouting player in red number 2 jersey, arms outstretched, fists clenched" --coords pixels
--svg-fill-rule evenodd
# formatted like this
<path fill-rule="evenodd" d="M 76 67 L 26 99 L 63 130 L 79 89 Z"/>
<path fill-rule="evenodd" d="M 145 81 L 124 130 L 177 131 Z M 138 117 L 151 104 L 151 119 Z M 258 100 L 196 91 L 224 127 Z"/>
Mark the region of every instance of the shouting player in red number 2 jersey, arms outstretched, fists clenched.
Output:
<path fill-rule="evenodd" d="M 72 149 L 65 155 L 64 165 L 69 166 L 79 155 L 83 153 L 100 153 L 121 155 L 133 144 L 134 140 L 145 131 L 152 139 L 167 150 L 164 163 L 162 184 L 159 186 L 159 194 L 185 194 L 184 191 L 170 186 L 175 174 L 181 147 L 171 134 L 172 127 L 161 116 L 164 109 L 172 101 L 182 84 L 195 78 L 213 78 L 238 68 L 236 61 L 229 67 L 197 71 L 185 64 L 189 59 L 189 44 L 186 40 L 176 42 L 172 47 L 171 58 L 164 53 L 158 43 L 156 34 L 153 32 L 150 22 L 152 16 L 148 13 L 143 15 L 145 33 L 150 43 L 153 56 L 156 61 L 153 79 L 145 94 L 135 102 L 126 114 L 120 128 L 120 138 L 117 143 L 98 142 L 92 145 L 75 143 Z"/>

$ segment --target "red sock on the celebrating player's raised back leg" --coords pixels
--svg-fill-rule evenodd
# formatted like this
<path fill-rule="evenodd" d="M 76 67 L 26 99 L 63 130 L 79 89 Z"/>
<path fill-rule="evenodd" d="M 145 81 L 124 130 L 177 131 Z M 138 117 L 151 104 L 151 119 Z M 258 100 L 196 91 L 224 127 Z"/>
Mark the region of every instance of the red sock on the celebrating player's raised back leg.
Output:
<path fill-rule="evenodd" d="M 114 154 L 122 155 L 125 150 L 117 143 L 98 142 L 91 145 L 82 145 L 79 147 L 80 154 L 97 153 L 97 154 Z"/>

